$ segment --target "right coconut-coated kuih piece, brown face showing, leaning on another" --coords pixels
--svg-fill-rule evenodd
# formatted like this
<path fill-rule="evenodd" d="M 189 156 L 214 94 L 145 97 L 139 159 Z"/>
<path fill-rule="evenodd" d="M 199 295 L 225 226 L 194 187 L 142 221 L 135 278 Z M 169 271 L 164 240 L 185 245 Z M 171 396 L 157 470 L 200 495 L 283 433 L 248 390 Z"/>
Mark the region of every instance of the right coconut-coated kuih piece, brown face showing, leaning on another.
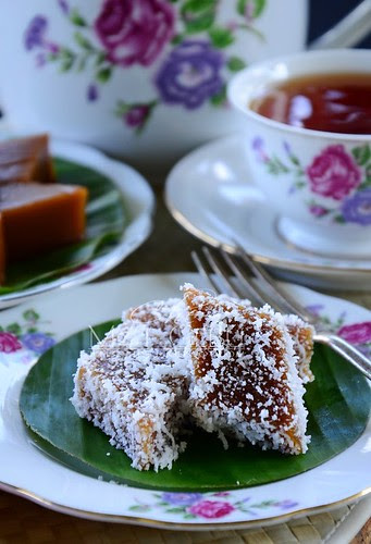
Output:
<path fill-rule="evenodd" d="M 214 297 L 186 284 L 194 367 L 190 412 L 208 432 L 263 449 L 307 450 L 305 388 L 281 314 Z"/>

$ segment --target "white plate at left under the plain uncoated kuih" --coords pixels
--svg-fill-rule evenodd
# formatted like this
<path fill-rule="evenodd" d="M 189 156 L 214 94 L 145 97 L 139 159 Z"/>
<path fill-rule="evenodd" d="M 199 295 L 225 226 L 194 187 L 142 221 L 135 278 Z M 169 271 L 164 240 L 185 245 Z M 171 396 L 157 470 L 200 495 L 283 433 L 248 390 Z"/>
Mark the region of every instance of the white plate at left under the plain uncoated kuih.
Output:
<path fill-rule="evenodd" d="M 127 224 L 121 239 L 104 256 L 92 259 L 89 263 L 82 267 L 81 270 L 65 274 L 51 282 L 41 283 L 20 292 L 0 295 L 0 309 L 14 306 L 41 293 L 72 287 L 104 274 L 140 246 L 151 231 L 154 196 L 149 184 L 138 172 L 122 162 L 109 159 L 96 149 L 81 144 L 52 140 L 51 153 L 55 157 L 97 170 L 111 178 L 123 195 L 126 213 L 128 213 Z"/>

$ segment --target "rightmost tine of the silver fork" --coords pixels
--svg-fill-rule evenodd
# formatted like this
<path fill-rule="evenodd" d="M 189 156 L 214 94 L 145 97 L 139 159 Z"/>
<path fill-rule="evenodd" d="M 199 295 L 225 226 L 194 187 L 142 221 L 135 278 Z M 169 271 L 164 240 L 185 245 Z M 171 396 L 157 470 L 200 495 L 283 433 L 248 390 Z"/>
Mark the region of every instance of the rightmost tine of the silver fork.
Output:
<path fill-rule="evenodd" d="M 286 289 L 277 285 L 276 281 L 273 280 L 269 272 L 267 272 L 260 263 L 253 261 L 239 244 L 236 244 L 236 247 L 243 261 L 259 280 L 260 284 L 267 288 L 268 296 L 272 299 L 273 306 L 275 306 L 283 313 L 296 313 L 309 323 L 313 323 L 316 321 L 316 318 L 313 318 L 309 311 L 297 302 L 293 296 L 286 292 Z"/>

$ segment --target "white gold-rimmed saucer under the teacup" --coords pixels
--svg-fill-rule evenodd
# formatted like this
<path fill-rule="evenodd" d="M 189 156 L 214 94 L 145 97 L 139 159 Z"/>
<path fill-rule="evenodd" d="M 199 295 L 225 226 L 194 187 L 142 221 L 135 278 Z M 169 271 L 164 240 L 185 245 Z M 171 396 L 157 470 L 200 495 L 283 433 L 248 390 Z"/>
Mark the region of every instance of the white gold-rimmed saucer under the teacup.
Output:
<path fill-rule="evenodd" d="M 236 243 L 276 275 L 330 289 L 368 290 L 369 259 L 337 259 L 288 244 L 279 215 L 255 186 L 243 151 L 243 136 L 218 139 L 183 158 L 170 172 L 165 202 L 190 234 L 233 251 Z"/>

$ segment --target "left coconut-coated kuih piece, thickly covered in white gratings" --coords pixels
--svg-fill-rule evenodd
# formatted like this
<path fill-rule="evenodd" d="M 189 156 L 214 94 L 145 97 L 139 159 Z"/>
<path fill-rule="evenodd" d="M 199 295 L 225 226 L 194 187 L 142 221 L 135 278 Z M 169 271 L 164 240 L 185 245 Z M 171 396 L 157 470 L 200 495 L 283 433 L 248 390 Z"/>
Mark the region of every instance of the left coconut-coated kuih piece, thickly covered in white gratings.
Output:
<path fill-rule="evenodd" d="M 148 322 L 126 319 L 77 361 L 71 399 L 77 413 L 108 434 L 138 470 L 170 469 L 185 447 L 175 441 L 188 385 L 182 358 L 169 355 L 173 306 L 156 302 Z"/>

